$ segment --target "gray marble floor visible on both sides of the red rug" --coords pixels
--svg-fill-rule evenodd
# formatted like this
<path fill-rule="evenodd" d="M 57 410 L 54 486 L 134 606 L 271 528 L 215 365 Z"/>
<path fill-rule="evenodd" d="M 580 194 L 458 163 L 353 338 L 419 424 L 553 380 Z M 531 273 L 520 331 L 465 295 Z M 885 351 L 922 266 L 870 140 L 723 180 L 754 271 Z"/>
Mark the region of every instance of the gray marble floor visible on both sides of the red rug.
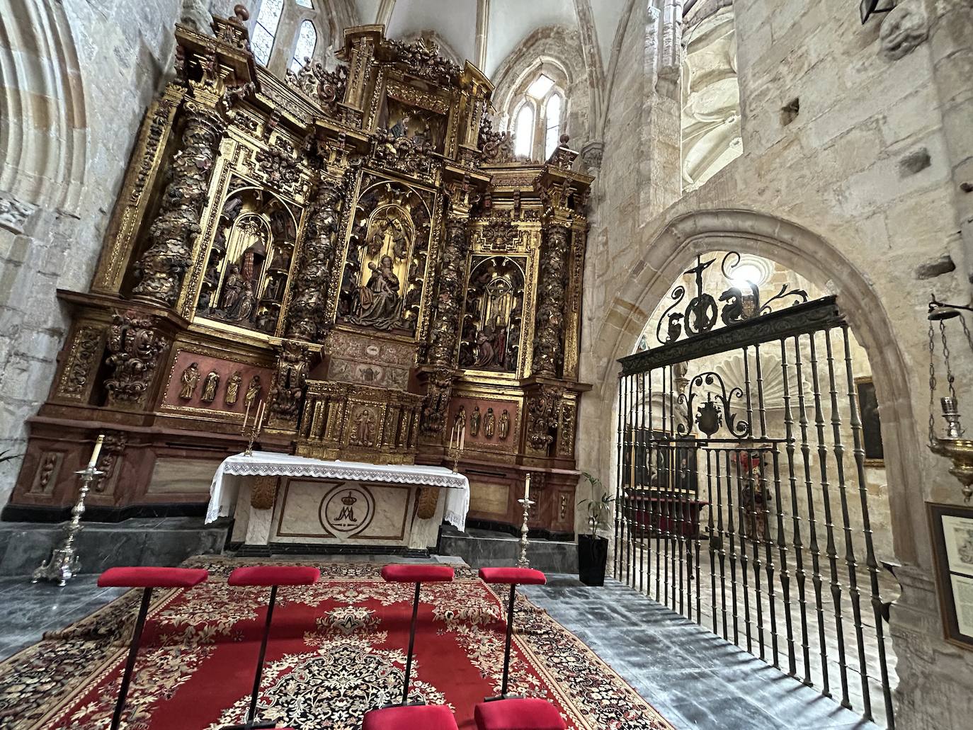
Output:
<path fill-rule="evenodd" d="M 588 643 L 677 730 L 876 728 L 617 581 L 590 588 L 574 575 L 555 574 L 546 586 L 523 591 Z M 0 579 L 0 659 L 120 593 L 98 588 L 93 575 L 65 588 Z"/>

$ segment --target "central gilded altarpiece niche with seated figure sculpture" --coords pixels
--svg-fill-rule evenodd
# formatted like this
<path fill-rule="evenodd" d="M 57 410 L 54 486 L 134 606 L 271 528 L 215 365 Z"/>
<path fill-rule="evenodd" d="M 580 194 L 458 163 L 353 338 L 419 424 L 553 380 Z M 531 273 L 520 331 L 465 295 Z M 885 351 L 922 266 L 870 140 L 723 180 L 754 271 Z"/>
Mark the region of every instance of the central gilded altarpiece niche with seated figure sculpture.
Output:
<path fill-rule="evenodd" d="M 363 188 L 338 315 L 348 324 L 412 336 L 425 279 L 431 200 L 403 183 L 371 176 Z"/>

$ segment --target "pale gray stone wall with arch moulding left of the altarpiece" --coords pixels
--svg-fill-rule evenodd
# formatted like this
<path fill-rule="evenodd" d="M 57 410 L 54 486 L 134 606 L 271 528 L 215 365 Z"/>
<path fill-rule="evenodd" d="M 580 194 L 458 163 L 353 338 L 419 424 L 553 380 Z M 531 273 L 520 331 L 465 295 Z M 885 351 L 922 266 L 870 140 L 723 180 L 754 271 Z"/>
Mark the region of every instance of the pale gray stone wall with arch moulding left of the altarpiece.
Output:
<path fill-rule="evenodd" d="M 55 290 L 90 285 L 181 5 L 0 0 L 0 451 L 22 453 L 47 397 L 66 323 Z M 0 464 L 0 502 L 18 468 Z"/>

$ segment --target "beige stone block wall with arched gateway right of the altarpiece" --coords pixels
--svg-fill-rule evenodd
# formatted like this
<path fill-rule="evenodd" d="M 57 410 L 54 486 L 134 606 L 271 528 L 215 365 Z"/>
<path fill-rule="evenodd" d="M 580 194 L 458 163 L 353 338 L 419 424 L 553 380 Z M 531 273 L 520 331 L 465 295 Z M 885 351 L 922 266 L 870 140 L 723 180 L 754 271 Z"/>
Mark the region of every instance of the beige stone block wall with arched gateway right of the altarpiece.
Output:
<path fill-rule="evenodd" d="M 924 447 L 925 310 L 933 290 L 943 300 L 970 298 L 964 235 L 973 195 L 960 185 L 973 154 L 973 7 L 898 5 L 862 26 L 857 3 L 845 0 L 736 0 L 742 155 L 678 200 L 665 189 L 652 194 L 678 179 L 678 156 L 669 160 L 672 137 L 658 115 L 667 80 L 644 63 L 653 32 L 633 12 L 608 64 L 616 71 L 606 95 L 581 361 L 595 390 L 582 401 L 579 468 L 614 480 L 615 361 L 632 351 L 697 252 L 735 244 L 837 293 L 872 361 L 886 455 L 891 445 L 898 462 L 886 474 L 891 541 L 905 564 L 892 613 L 898 724 L 961 727 L 971 710 L 973 652 L 942 639 L 924 507 L 961 496 L 945 460 Z M 698 236 L 703 231 L 710 233 Z M 731 231 L 733 243 L 718 239 Z M 973 357 L 959 328 L 953 332 L 960 402 L 973 403 Z"/>

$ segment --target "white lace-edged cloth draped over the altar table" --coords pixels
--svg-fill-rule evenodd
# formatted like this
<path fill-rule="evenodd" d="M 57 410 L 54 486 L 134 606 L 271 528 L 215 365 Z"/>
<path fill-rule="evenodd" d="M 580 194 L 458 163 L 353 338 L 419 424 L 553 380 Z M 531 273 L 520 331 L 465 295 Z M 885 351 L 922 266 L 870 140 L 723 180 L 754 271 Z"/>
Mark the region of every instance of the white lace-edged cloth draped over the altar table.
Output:
<path fill-rule="evenodd" d="M 239 480 L 234 477 L 245 476 L 306 477 L 438 487 L 447 490 L 443 519 L 461 532 L 466 530 L 466 513 L 470 509 L 470 483 L 464 475 L 450 471 L 445 466 L 324 461 L 273 452 L 254 452 L 252 456 L 235 454 L 223 459 L 209 487 L 207 523 L 230 515 L 239 491 Z"/>

